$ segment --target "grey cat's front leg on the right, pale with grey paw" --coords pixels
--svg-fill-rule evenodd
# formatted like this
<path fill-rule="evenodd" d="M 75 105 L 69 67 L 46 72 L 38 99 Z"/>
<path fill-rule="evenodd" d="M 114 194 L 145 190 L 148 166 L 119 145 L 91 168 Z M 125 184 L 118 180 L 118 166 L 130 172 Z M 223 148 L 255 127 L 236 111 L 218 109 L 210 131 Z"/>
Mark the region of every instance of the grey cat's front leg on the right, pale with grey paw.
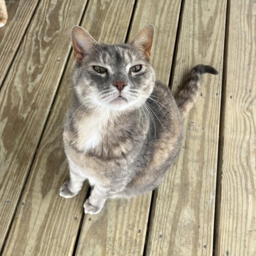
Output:
<path fill-rule="evenodd" d="M 92 189 L 91 195 L 84 203 L 84 212 L 90 214 L 97 214 L 103 208 L 107 198 L 118 193 L 124 188 L 111 189 L 99 185 L 95 185 Z"/>

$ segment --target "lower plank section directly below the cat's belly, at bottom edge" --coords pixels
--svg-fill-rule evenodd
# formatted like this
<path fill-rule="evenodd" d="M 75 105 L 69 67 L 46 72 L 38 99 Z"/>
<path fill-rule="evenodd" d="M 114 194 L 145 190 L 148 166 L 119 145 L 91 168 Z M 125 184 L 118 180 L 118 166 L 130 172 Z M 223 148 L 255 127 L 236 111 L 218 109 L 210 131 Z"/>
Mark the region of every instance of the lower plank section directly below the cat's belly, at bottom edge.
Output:
<path fill-rule="evenodd" d="M 99 214 L 87 214 L 76 255 L 142 255 L 150 198 L 109 200 Z"/>

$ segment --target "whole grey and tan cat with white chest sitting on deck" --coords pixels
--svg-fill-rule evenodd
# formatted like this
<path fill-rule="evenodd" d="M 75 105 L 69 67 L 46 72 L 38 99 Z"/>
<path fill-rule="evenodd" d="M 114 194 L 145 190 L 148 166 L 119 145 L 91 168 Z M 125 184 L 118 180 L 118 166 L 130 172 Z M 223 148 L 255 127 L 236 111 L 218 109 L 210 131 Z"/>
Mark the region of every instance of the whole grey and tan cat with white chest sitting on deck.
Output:
<path fill-rule="evenodd" d="M 70 180 L 60 195 L 77 195 L 89 180 L 85 213 L 99 213 L 107 198 L 141 195 L 159 185 L 179 154 L 182 116 L 196 100 L 199 75 L 217 74 L 211 66 L 194 67 L 174 99 L 155 82 L 153 38 L 153 25 L 120 45 L 99 44 L 79 26 L 71 31 L 75 87 L 63 132 Z"/>

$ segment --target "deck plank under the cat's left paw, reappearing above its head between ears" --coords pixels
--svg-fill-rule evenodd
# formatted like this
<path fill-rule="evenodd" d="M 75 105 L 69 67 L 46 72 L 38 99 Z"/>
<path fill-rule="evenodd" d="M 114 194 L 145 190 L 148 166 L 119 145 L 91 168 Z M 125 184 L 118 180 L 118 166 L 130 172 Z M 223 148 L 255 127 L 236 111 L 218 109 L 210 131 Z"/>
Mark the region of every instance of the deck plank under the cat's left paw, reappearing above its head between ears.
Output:
<path fill-rule="evenodd" d="M 122 42 L 127 33 L 133 5 L 134 1 L 127 1 L 126 4 L 122 0 L 90 1 L 82 26 L 99 41 Z M 73 253 L 88 189 L 85 185 L 78 196 L 70 199 L 59 196 L 62 183 L 68 179 L 62 132 L 73 94 L 68 90 L 73 87 L 73 67 L 74 57 L 71 54 L 18 206 L 4 255 L 66 256 Z"/>

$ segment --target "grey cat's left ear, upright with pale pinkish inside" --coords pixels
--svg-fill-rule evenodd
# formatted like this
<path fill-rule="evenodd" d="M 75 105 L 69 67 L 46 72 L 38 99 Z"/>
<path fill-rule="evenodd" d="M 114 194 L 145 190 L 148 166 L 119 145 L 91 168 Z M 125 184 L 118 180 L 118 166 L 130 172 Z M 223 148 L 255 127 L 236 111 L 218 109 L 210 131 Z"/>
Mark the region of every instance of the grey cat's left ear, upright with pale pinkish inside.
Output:
<path fill-rule="evenodd" d="M 74 26 L 71 30 L 71 42 L 73 45 L 75 61 L 80 64 L 86 54 L 95 50 L 97 42 L 82 27 Z"/>

